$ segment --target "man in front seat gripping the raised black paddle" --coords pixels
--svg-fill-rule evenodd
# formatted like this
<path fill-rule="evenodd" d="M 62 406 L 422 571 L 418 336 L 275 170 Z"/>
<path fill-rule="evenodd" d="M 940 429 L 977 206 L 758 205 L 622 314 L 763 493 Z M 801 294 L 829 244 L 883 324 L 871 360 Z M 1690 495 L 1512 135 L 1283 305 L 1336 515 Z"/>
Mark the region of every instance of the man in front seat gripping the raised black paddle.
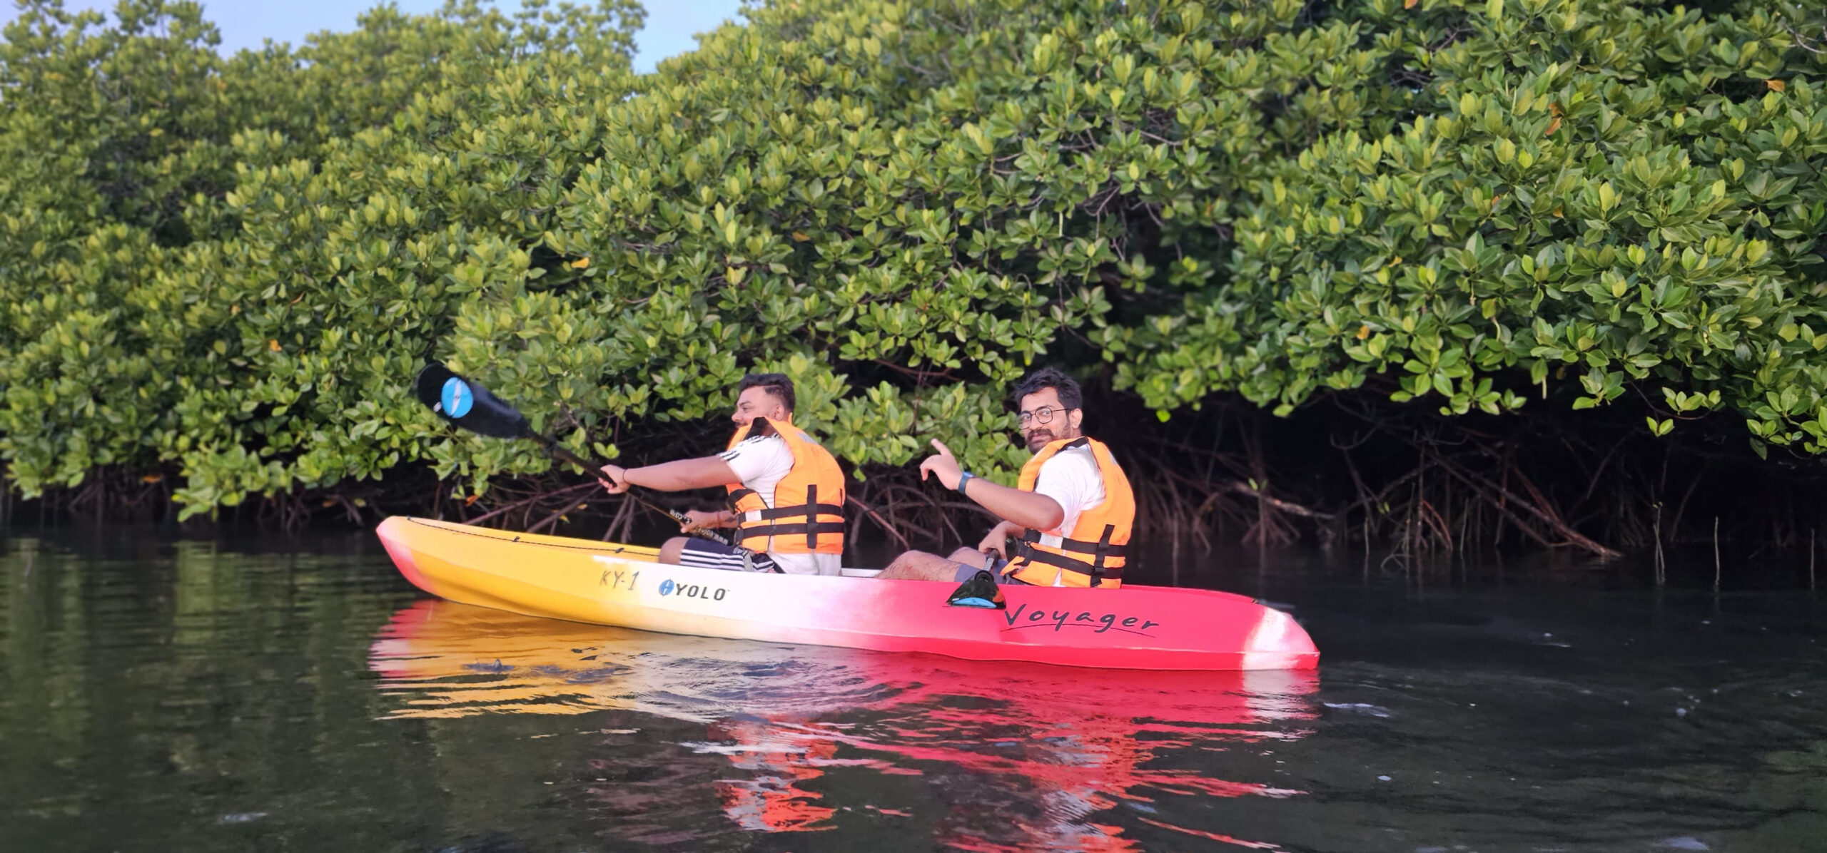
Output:
<path fill-rule="evenodd" d="M 612 495 L 628 486 L 660 491 L 727 486 L 731 510 L 685 513 L 680 528 L 736 528 L 736 544 L 672 537 L 660 563 L 791 575 L 842 574 L 844 471 L 831 453 L 793 426 L 793 380 L 751 373 L 736 393 L 736 435 L 716 457 L 647 468 L 603 466 Z"/>

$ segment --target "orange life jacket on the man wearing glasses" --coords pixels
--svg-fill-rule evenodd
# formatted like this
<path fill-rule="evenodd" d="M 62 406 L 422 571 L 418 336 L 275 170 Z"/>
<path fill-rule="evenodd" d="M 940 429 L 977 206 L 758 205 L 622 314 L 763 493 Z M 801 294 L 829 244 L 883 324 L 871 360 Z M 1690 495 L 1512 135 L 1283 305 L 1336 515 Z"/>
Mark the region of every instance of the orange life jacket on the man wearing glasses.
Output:
<path fill-rule="evenodd" d="M 1060 438 L 1049 442 L 1040 453 L 1021 466 L 1021 491 L 1034 491 L 1040 479 L 1040 466 L 1047 464 L 1061 449 L 1091 448 L 1098 460 L 1098 475 L 1104 479 L 1104 500 L 1087 506 L 1078 513 L 1072 530 L 1029 530 L 1016 542 L 1016 557 L 1009 561 L 1009 574 L 1023 583 L 1038 586 L 1104 586 L 1124 584 L 1124 546 L 1129 544 L 1129 526 L 1136 517 L 1136 499 L 1129 490 L 1129 477 L 1111 458 L 1111 449 L 1094 438 Z"/>

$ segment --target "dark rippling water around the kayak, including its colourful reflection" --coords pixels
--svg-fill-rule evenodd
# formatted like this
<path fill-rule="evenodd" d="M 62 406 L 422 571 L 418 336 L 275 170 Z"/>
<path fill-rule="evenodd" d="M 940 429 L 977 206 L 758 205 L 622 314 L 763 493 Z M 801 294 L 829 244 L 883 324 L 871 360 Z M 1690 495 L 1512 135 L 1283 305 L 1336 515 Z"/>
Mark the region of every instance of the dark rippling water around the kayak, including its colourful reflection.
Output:
<path fill-rule="evenodd" d="M 1805 590 L 1182 557 L 1321 670 L 669 637 L 426 601 L 362 537 L 11 535 L 0 851 L 1827 849 Z"/>

